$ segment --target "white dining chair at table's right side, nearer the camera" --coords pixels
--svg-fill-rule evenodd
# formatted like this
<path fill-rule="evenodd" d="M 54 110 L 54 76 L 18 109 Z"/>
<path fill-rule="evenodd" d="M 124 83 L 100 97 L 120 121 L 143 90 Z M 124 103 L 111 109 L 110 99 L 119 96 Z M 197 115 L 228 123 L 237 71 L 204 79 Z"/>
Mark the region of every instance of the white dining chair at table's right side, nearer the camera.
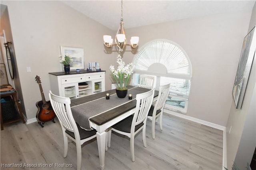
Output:
<path fill-rule="evenodd" d="M 147 147 L 146 144 L 146 117 L 150 106 L 152 105 L 154 98 L 154 89 L 137 94 L 136 95 L 136 109 L 133 115 L 128 116 L 126 119 L 116 123 L 108 131 L 108 147 L 110 148 L 111 133 L 115 131 L 122 135 L 126 135 L 130 138 L 130 150 L 132 155 L 132 162 L 135 161 L 134 156 L 134 136 L 142 130 L 142 140 L 144 147 Z"/>

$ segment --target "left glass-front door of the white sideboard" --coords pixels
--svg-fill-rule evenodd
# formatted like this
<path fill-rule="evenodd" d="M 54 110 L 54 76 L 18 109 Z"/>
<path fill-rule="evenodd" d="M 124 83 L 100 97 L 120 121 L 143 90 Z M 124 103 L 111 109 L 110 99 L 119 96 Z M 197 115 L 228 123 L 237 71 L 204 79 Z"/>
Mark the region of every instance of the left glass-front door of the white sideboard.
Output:
<path fill-rule="evenodd" d="M 70 99 L 79 98 L 78 84 L 77 83 L 62 84 L 62 94 L 63 94 L 63 97 L 70 98 Z"/>

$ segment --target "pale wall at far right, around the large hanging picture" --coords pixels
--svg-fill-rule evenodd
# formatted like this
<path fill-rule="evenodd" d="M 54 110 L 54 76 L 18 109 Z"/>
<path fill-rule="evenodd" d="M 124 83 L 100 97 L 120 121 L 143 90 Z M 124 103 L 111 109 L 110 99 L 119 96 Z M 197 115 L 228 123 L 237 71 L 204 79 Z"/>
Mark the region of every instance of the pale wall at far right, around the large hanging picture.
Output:
<path fill-rule="evenodd" d="M 256 25 L 256 7 L 251 13 L 250 24 L 247 25 L 249 33 Z M 246 34 L 247 34 L 246 33 Z M 244 35 L 245 37 L 246 35 Z M 256 147 L 256 58 L 252 63 L 246 92 L 241 109 L 236 109 L 234 102 L 230 107 L 227 121 L 226 145 L 227 168 L 231 169 L 233 162 L 240 169 L 246 169 L 250 164 Z M 229 133 L 230 127 L 231 131 Z"/>

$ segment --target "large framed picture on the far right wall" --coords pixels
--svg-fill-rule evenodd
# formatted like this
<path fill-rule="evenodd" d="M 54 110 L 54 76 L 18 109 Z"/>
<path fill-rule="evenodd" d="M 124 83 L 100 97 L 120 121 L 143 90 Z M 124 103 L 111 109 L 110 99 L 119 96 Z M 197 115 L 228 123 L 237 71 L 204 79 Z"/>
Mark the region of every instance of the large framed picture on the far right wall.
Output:
<path fill-rule="evenodd" d="M 236 78 L 233 86 L 233 99 L 236 109 L 241 109 L 244 94 L 252 67 L 252 61 L 256 50 L 255 27 L 244 37 L 244 43 L 236 71 Z"/>

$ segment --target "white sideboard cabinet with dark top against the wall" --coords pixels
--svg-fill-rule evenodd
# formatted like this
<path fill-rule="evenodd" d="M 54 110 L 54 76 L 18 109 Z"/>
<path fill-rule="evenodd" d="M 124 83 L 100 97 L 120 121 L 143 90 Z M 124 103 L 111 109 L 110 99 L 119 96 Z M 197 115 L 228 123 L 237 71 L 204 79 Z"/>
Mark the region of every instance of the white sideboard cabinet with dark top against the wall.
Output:
<path fill-rule="evenodd" d="M 49 72 L 53 94 L 70 99 L 81 98 L 105 91 L 106 71 Z M 86 83 L 86 86 L 78 86 Z"/>

